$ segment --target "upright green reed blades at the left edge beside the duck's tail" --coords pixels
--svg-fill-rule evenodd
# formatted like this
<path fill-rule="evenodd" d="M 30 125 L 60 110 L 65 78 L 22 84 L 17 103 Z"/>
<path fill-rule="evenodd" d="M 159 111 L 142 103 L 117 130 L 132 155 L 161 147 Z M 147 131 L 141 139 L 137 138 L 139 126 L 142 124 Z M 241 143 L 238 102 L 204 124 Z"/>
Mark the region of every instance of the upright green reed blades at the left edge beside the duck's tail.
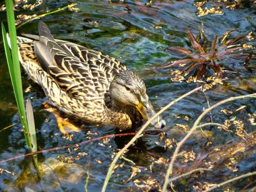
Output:
<path fill-rule="evenodd" d="M 37 151 L 36 136 L 35 136 L 36 131 L 34 127 L 34 117 L 32 114 L 32 106 L 30 104 L 30 101 L 28 101 L 27 110 L 25 110 L 25 106 L 24 106 L 22 77 L 20 73 L 20 61 L 18 57 L 18 44 L 17 44 L 17 35 L 15 30 L 15 19 L 14 19 L 12 1 L 6 1 L 6 8 L 7 8 L 7 22 L 8 22 L 9 40 L 10 40 L 9 43 L 11 45 L 11 51 L 9 49 L 5 27 L 3 26 L 3 23 L 2 23 L 1 27 L 2 27 L 2 34 L 3 34 L 3 43 L 5 48 L 5 55 L 7 58 L 7 64 L 9 67 L 9 73 L 11 76 L 11 83 L 13 85 L 15 99 L 16 99 L 18 110 L 20 113 L 20 119 L 22 121 L 22 127 L 24 131 L 24 137 L 26 139 L 26 144 L 30 152 L 36 152 Z M 26 117 L 28 117 L 28 121 Z M 34 139 L 32 137 L 34 137 Z M 33 160 L 34 160 L 34 165 L 38 170 L 38 166 L 37 166 L 38 163 L 37 163 L 36 157 L 33 156 Z"/>

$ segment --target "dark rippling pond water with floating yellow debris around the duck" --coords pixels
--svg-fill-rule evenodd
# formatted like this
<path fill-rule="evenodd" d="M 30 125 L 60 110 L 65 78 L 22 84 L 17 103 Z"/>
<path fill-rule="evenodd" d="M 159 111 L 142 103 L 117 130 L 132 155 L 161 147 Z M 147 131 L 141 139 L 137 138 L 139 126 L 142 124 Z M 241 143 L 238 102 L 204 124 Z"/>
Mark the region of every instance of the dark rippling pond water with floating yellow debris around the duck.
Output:
<path fill-rule="evenodd" d="M 228 2 L 212 2 L 207 6 L 218 5 L 224 11 L 221 15 L 197 16 L 195 1 L 78 1 L 75 11 L 59 11 L 41 18 L 57 39 L 68 40 L 101 51 L 115 57 L 138 73 L 146 83 L 152 105 L 160 110 L 172 100 L 193 90 L 197 83 L 172 82 L 170 68 L 161 68 L 164 63 L 175 59 L 183 59 L 182 55 L 167 51 L 170 46 L 191 47 L 187 30 L 195 36 L 203 23 L 203 30 L 208 40 L 213 41 L 216 35 L 222 36 L 226 31 L 239 28 L 231 36 L 255 32 L 255 3 L 243 1 L 243 5 L 231 10 L 226 8 Z M 32 11 L 16 7 L 16 14 L 40 15 L 63 7 L 67 1 L 43 1 L 42 5 Z M 146 5 L 149 3 L 148 5 Z M 2 3 L 1 3 L 2 5 Z M 5 11 L 0 12 L 5 26 Z M 38 34 L 38 20 L 29 22 L 18 29 L 18 35 Z M 1 41 L 2 42 L 2 41 Z M 255 45 L 255 42 L 252 44 Z M 191 49 L 192 50 L 192 49 Z M 254 52 L 255 54 L 255 52 Z M 228 59 L 225 61 L 228 63 Z M 254 62 L 254 63 L 253 63 Z M 229 62 L 230 68 L 239 71 L 228 73 L 227 84 L 213 86 L 205 91 L 212 106 L 220 100 L 231 96 L 253 94 L 256 91 L 256 77 L 240 65 L 241 61 Z M 243 62 L 242 62 L 243 63 Z M 249 66 L 255 70 L 255 61 Z M 175 67 L 174 69 L 179 69 Z M 34 84 L 22 72 L 25 100 L 30 98 L 34 109 L 36 136 L 39 150 L 60 146 L 69 146 L 90 138 L 119 133 L 118 129 L 109 126 L 79 125 L 79 133 L 71 132 L 63 135 L 57 126 L 53 113 L 44 110 L 43 102 L 47 101 L 42 89 Z M 13 88 L 3 52 L 0 51 L 0 160 L 20 156 L 28 152 L 22 133 L 18 110 L 15 104 Z M 236 110 L 243 106 L 242 109 Z M 177 141 L 187 134 L 195 119 L 207 108 L 207 100 L 202 92 L 195 92 L 162 113 L 166 120 L 166 133 L 160 135 L 144 135 L 125 153 L 125 158 L 118 161 L 120 166 L 113 173 L 107 191 L 158 191 L 164 183 L 168 159 L 172 156 Z M 227 109 L 231 113 L 223 113 Z M 174 165 L 174 176 L 193 168 L 212 168 L 212 172 L 191 174 L 173 183 L 176 191 L 200 191 L 212 183 L 222 183 L 238 175 L 256 170 L 255 121 L 249 121 L 256 113 L 255 98 L 228 102 L 212 111 L 215 123 L 224 124 L 229 120 L 230 130 L 224 131 L 214 127 L 203 127 L 208 135 L 201 131 L 185 143 L 182 151 L 185 155 L 177 159 Z M 236 119 L 232 119 L 236 117 Z M 256 118 L 256 117 L 255 117 Z M 253 118 L 251 118 L 253 119 Z M 210 115 L 206 115 L 202 123 L 210 123 Z M 243 123 L 241 130 L 245 136 L 238 134 L 235 124 Z M 9 125 L 9 129 L 4 129 Z M 183 125 L 187 125 L 184 127 Z M 152 128 L 152 127 L 151 127 Z M 135 132 L 131 130 L 130 132 Z M 123 132 L 122 132 L 123 133 Z M 66 136 L 66 137 L 65 137 Z M 252 139 L 254 138 L 254 139 Z M 30 173 L 30 158 L 16 158 L 0 164 L 1 191 L 100 191 L 108 166 L 118 152 L 131 137 L 115 137 L 107 142 L 92 141 L 79 148 L 53 150 L 38 155 L 38 160 L 45 175 L 39 185 L 34 172 Z M 172 145 L 166 146 L 167 141 Z M 61 161 L 66 164 L 61 164 Z M 71 164 L 72 163 L 72 164 Z M 49 168 L 51 167 L 51 168 Z M 57 167 L 57 168 L 53 168 Z M 137 170 L 137 171 L 135 171 Z M 54 172 L 54 174 L 53 174 Z M 11 174 L 12 173 L 12 174 Z M 150 183 L 150 178 L 152 179 Z M 254 184 L 253 184 L 254 182 Z M 241 191 L 253 189 L 255 177 L 247 177 L 225 185 L 217 191 Z M 254 188 L 255 189 L 255 188 Z M 171 190 L 170 187 L 168 190 Z"/>

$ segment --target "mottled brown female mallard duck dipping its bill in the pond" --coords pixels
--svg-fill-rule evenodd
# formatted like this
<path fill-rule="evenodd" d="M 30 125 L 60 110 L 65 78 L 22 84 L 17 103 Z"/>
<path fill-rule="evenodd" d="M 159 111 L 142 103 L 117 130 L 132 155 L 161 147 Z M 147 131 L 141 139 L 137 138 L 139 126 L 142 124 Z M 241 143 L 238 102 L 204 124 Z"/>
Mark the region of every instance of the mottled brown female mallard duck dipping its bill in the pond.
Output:
<path fill-rule="evenodd" d="M 63 113 L 120 129 L 156 114 L 143 80 L 125 65 L 98 51 L 54 39 L 43 22 L 38 28 L 39 36 L 18 37 L 20 62 Z M 152 124 L 162 128 L 165 121 L 158 118 Z"/>

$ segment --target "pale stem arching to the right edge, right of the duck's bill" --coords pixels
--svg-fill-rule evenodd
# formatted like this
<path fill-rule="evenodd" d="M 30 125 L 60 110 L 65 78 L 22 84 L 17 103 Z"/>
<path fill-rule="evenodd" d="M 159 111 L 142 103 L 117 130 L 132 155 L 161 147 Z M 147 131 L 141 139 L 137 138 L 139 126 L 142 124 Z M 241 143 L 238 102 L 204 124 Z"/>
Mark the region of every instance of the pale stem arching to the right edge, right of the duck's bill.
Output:
<path fill-rule="evenodd" d="M 179 150 L 181 149 L 183 144 L 187 141 L 187 139 L 189 139 L 189 137 L 192 135 L 193 131 L 195 131 L 195 129 L 197 129 L 198 124 L 201 121 L 201 119 L 207 113 L 209 113 L 210 110 L 212 110 L 213 108 L 216 108 L 216 106 L 219 106 L 219 105 L 224 104 L 226 102 L 230 102 L 232 100 L 243 99 L 243 98 L 247 98 L 247 97 L 256 97 L 256 94 L 249 94 L 249 95 L 245 95 L 245 96 L 236 96 L 236 97 L 227 98 L 226 100 L 222 100 L 220 102 L 217 102 L 216 104 L 214 104 L 210 108 L 207 108 L 205 111 L 203 111 L 203 113 L 201 113 L 201 115 L 197 118 L 197 120 L 195 121 L 195 123 L 194 123 L 193 127 L 191 128 L 191 130 L 189 131 L 189 133 L 187 133 L 187 135 L 179 143 L 177 143 L 177 148 L 174 151 L 174 154 L 172 156 L 172 160 L 170 161 L 170 164 L 168 166 L 168 170 L 166 172 L 166 178 L 165 178 L 165 181 L 164 181 L 164 186 L 163 186 L 162 191 L 166 191 L 167 185 L 168 185 L 169 180 L 170 180 L 170 175 L 172 174 L 172 168 L 173 168 L 174 162 L 177 158 L 177 154 L 179 153 Z"/>

